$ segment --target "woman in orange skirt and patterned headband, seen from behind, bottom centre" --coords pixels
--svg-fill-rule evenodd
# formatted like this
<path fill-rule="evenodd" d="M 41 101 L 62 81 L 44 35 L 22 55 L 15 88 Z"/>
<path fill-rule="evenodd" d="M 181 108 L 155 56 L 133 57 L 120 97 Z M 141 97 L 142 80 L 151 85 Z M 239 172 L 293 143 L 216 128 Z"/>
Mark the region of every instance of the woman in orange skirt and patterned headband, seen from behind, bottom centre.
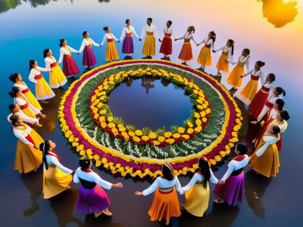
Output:
<path fill-rule="evenodd" d="M 178 177 L 173 173 L 171 164 L 163 163 L 162 174 L 163 176 L 157 177 L 148 189 L 143 192 L 135 192 L 135 194 L 137 196 L 147 196 L 156 191 L 148 215 L 151 216 L 151 221 L 161 221 L 164 218 L 166 220 L 165 225 L 168 225 L 171 217 L 179 217 L 181 215 L 176 189 L 181 195 L 183 191 Z"/>

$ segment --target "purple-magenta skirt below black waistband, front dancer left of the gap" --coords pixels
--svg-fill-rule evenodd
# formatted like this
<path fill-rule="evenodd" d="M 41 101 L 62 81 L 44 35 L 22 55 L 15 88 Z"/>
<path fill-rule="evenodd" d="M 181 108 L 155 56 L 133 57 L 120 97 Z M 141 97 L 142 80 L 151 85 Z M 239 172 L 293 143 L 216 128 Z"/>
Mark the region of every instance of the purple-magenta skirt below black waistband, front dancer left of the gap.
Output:
<path fill-rule="evenodd" d="M 76 209 L 87 214 L 99 213 L 108 208 L 111 203 L 105 191 L 99 185 L 92 189 L 85 189 L 80 186 Z"/>

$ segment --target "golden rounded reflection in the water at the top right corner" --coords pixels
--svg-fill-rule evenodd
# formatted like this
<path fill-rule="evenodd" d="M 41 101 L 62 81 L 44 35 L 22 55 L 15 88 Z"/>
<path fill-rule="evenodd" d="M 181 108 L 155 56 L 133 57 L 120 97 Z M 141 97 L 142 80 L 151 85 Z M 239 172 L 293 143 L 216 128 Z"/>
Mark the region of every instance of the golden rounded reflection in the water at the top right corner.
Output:
<path fill-rule="evenodd" d="M 287 23 L 294 21 L 298 14 L 296 8 L 298 2 L 290 1 L 284 2 L 284 0 L 256 0 L 257 2 L 263 2 L 262 11 L 263 17 L 267 18 L 267 21 L 275 26 L 275 28 L 282 28 Z"/>

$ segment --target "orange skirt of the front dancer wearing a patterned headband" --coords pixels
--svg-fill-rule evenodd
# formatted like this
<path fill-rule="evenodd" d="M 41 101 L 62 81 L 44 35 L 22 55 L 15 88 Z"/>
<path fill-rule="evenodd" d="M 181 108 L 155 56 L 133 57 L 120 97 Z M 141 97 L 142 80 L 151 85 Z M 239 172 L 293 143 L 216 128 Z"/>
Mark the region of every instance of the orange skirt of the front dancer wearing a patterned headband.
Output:
<path fill-rule="evenodd" d="M 171 217 L 181 216 L 180 203 L 175 187 L 172 192 L 166 194 L 159 192 L 159 189 L 156 190 L 148 215 L 151 216 L 151 221 L 165 219 L 167 222 Z"/>

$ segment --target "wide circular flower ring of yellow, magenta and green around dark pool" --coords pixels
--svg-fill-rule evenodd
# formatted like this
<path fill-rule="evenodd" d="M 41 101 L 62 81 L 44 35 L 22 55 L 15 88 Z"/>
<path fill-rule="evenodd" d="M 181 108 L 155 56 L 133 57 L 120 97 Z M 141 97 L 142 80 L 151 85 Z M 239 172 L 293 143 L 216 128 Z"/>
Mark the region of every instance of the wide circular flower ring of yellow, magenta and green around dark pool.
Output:
<path fill-rule="evenodd" d="M 125 79 L 146 75 L 165 78 L 190 94 L 193 110 L 183 125 L 135 129 L 112 114 L 109 91 Z M 238 141 L 242 120 L 235 100 L 212 77 L 161 60 L 116 61 L 83 74 L 62 97 L 58 118 L 80 156 L 112 173 L 140 177 L 161 175 L 165 161 L 176 175 L 195 172 L 201 155 L 215 165 Z"/>

